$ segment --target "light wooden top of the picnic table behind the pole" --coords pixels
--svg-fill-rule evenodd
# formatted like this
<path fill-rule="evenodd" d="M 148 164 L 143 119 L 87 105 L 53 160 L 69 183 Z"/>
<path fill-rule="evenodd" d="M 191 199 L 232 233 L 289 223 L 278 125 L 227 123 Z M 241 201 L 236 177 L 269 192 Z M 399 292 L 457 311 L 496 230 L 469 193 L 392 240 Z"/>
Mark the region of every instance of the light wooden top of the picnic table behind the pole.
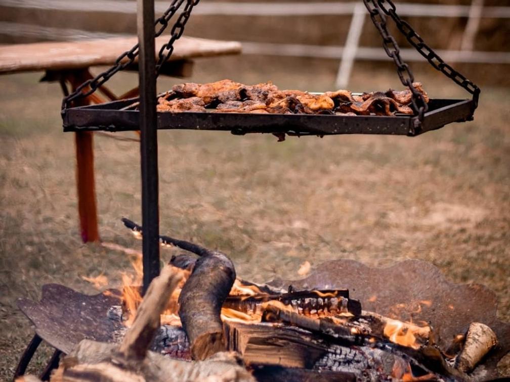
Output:
<path fill-rule="evenodd" d="M 120 54 L 130 50 L 137 37 L 103 40 L 38 42 L 0 46 L 0 73 L 39 70 L 80 69 L 97 65 L 112 65 Z M 156 39 L 156 51 L 168 42 L 168 37 Z M 170 60 L 239 54 L 241 43 L 196 37 L 182 37 L 174 44 Z"/>

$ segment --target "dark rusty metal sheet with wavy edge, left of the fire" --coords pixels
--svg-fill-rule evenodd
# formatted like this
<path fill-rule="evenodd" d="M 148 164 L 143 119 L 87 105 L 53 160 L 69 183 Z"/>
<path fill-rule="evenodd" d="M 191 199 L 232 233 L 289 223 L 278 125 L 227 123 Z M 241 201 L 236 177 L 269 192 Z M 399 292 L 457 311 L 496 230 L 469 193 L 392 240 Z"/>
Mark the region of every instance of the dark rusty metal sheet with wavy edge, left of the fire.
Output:
<path fill-rule="evenodd" d="M 120 304 L 119 291 L 89 296 L 58 284 L 42 287 L 41 301 L 18 300 L 18 307 L 35 325 L 36 333 L 53 347 L 69 353 L 88 338 L 110 342 L 121 322 L 107 318 L 112 305 Z"/>

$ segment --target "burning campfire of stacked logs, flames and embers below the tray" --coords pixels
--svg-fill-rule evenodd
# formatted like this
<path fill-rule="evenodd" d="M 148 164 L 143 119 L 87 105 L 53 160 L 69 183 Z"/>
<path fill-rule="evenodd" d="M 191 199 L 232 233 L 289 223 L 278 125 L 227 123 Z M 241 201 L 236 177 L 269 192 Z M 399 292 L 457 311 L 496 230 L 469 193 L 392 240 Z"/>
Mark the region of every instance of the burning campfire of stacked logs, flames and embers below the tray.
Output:
<path fill-rule="evenodd" d="M 140 226 L 129 220 L 124 224 L 141 236 Z M 373 286 L 366 282 L 361 288 L 356 284 L 353 290 L 337 288 L 329 285 L 330 277 L 322 272 L 323 283 L 316 284 L 320 288 L 305 287 L 306 283 L 299 281 L 255 284 L 237 278 L 234 264 L 219 251 L 167 236 L 161 236 L 160 242 L 198 257 L 172 257 L 143 298 L 138 258 L 134 273 L 123 276 L 121 290 L 85 296 L 50 286 L 58 297 L 43 289 L 40 305 L 20 304 L 36 330 L 40 328 L 38 333 L 50 343 L 60 341 L 68 354 L 52 380 L 90 380 L 87 375 L 119 375 L 112 380 L 124 381 L 485 380 L 496 375 L 497 361 L 510 347 L 505 337 L 510 325 L 499 321 L 486 320 L 501 324 L 492 324 L 494 331 L 491 325 L 475 321 L 458 323 L 458 328 L 448 324 L 445 332 L 444 327 L 437 329 L 430 320 L 420 319 L 425 311 L 437 311 L 439 317 L 445 311 L 463 316 L 462 309 L 455 312 L 459 296 L 453 288 L 449 298 L 439 302 L 441 307 L 435 307 L 431 299 L 414 299 L 396 303 L 380 314 L 376 313 L 378 304 L 398 296 L 384 294 L 384 289 L 374 294 Z M 373 270 L 360 266 L 334 277 L 341 283 L 363 274 L 374 284 L 380 282 L 381 276 L 373 277 Z M 307 270 L 309 265 L 302 268 Z M 437 277 L 435 268 L 422 266 L 421 270 L 430 281 Z M 304 280 L 315 283 L 317 277 L 320 272 Z M 87 281 L 99 287 L 106 282 L 102 275 Z M 401 281 L 405 284 L 404 278 Z M 346 281 L 345 286 L 351 284 L 355 283 Z M 362 307 L 361 301 L 368 308 Z M 72 338 L 69 328 L 79 332 L 80 323 L 48 317 L 62 310 L 56 306 L 59 304 L 65 304 L 69 315 L 82 321 L 84 316 L 90 318 L 93 325 L 83 323 L 88 330 L 86 338 L 103 342 Z M 89 311 L 85 314 L 84 309 Z M 418 319 L 398 317 L 402 311 Z M 65 339 L 74 344 L 65 344 Z"/>

